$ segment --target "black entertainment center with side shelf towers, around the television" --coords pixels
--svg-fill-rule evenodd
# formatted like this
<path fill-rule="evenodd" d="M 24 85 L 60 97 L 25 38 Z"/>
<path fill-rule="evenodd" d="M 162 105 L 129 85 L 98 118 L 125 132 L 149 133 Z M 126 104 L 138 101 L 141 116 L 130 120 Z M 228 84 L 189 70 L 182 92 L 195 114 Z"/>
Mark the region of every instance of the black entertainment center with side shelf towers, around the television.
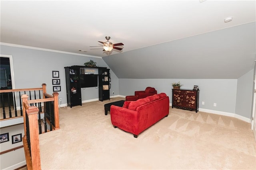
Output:
<path fill-rule="evenodd" d="M 107 67 L 86 67 L 73 65 L 64 67 L 68 106 L 81 105 L 81 88 L 98 87 L 99 101 L 110 99 L 110 69 Z M 98 70 L 98 74 L 94 72 Z"/>

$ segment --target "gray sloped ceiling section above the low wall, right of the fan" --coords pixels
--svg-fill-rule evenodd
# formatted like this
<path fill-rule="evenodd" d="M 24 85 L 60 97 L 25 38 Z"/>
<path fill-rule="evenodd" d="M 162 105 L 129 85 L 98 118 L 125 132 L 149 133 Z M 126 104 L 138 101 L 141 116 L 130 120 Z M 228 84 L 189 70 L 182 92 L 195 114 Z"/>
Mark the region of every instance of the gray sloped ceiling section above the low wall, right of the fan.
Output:
<path fill-rule="evenodd" d="M 237 79 L 253 69 L 256 22 L 102 57 L 118 78 Z"/>

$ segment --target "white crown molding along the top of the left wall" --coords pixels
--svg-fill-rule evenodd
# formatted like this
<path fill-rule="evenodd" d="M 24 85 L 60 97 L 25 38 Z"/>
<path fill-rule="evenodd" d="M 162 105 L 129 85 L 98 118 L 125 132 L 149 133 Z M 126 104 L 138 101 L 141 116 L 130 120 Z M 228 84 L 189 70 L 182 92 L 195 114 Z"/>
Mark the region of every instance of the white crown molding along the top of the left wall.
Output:
<path fill-rule="evenodd" d="M 3 43 L 0 42 L 0 45 L 6 45 L 10 47 L 20 47 L 20 48 L 28 48 L 28 49 L 36 49 L 36 50 L 41 50 L 41 51 L 50 51 L 50 52 L 55 52 L 55 53 L 64 53 L 64 54 L 71 54 L 71 55 L 81 55 L 85 57 L 94 57 L 94 58 L 102 58 L 94 55 L 86 55 L 86 54 L 79 54 L 79 53 L 70 53 L 67 51 L 58 51 L 54 49 L 46 49 L 46 48 L 38 48 L 38 47 L 30 47 L 30 46 L 25 46 L 25 45 L 18 45 L 18 44 L 12 44 L 12 43 Z"/>

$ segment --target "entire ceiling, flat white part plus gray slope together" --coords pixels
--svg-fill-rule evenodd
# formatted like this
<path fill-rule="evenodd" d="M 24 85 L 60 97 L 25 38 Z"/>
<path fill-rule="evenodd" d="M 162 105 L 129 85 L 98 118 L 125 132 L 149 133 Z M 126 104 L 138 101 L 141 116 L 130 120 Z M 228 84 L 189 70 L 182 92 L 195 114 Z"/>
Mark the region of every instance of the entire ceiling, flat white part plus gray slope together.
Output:
<path fill-rule="evenodd" d="M 119 78 L 233 79 L 253 68 L 255 9 L 255 0 L 1 0 L 0 41 L 103 57 Z M 123 49 L 90 47 L 105 36 Z"/>

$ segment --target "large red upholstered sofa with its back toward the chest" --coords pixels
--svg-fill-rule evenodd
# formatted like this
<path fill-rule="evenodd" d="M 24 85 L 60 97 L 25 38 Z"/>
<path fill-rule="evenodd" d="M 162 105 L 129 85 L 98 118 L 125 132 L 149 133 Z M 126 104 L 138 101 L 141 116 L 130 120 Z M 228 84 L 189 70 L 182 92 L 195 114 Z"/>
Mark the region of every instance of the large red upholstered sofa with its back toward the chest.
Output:
<path fill-rule="evenodd" d="M 125 101 L 123 107 L 112 105 L 110 117 L 114 128 L 130 132 L 135 138 L 169 114 L 169 97 L 165 93 L 137 101 Z"/>

